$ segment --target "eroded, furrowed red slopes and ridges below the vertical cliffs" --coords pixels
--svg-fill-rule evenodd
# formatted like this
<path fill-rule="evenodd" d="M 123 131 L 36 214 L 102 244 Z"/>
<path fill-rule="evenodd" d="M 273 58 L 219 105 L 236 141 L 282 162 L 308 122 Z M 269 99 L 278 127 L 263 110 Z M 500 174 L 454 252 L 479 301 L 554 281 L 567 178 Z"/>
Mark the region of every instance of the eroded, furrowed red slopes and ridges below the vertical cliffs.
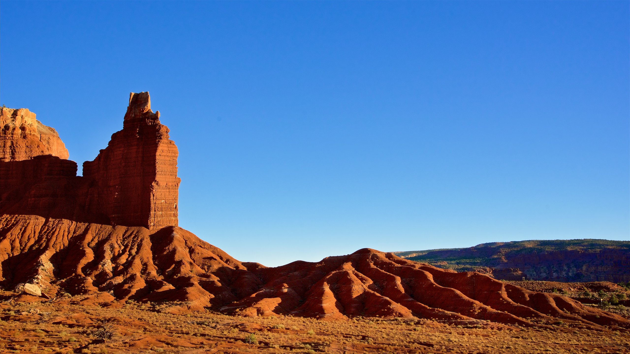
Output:
<path fill-rule="evenodd" d="M 456 273 L 360 249 L 317 263 L 241 263 L 180 227 L 106 226 L 33 215 L 0 217 L 0 285 L 31 283 L 51 297 L 184 301 L 243 316 L 346 319 L 421 317 L 534 326 L 630 326 L 558 294 L 532 292 L 476 272 Z"/>

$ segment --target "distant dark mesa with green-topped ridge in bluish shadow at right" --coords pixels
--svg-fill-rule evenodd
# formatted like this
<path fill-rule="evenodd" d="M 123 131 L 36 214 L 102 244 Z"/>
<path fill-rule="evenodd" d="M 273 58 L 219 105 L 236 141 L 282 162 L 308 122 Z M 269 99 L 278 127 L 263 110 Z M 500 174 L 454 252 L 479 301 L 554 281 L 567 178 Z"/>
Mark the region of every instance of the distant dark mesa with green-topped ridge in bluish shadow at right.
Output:
<path fill-rule="evenodd" d="M 630 241 L 529 240 L 394 252 L 408 260 L 503 280 L 630 282 Z"/>

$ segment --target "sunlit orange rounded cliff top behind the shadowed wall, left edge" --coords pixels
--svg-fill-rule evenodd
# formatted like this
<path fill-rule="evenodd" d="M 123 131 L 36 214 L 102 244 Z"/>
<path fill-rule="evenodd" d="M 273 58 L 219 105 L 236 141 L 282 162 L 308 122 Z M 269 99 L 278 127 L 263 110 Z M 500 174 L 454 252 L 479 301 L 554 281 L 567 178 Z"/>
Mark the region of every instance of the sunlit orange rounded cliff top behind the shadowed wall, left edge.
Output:
<path fill-rule="evenodd" d="M 0 128 L 0 161 L 28 160 L 48 154 L 68 158 L 57 131 L 43 125 L 26 108 L 0 108 Z"/>

